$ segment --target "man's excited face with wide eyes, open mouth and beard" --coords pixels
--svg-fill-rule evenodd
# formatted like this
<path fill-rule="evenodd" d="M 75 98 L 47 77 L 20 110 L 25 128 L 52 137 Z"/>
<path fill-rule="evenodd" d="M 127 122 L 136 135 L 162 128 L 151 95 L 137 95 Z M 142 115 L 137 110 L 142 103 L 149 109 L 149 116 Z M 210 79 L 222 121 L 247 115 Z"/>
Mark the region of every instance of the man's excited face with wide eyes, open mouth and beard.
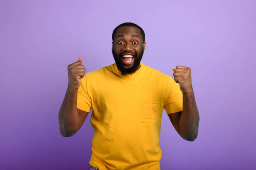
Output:
<path fill-rule="evenodd" d="M 140 29 L 123 26 L 117 29 L 113 41 L 112 54 L 116 66 L 123 74 L 133 74 L 140 68 L 140 61 L 145 50 Z"/>

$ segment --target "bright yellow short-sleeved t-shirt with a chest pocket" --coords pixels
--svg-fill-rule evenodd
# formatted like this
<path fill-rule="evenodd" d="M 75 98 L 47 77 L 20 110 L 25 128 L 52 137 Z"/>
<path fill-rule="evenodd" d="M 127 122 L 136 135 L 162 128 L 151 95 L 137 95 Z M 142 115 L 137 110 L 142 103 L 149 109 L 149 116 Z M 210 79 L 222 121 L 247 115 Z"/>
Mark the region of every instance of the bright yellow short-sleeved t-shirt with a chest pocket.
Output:
<path fill-rule="evenodd" d="M 160 170 L 160 127 L 182 111 L 182 92 L 169 75 L 141 63 L 122 76 L 116 64 L 85 74 L 77 108 L 90 112 L 95 130 L 90 164 L 99 170 Z"/>

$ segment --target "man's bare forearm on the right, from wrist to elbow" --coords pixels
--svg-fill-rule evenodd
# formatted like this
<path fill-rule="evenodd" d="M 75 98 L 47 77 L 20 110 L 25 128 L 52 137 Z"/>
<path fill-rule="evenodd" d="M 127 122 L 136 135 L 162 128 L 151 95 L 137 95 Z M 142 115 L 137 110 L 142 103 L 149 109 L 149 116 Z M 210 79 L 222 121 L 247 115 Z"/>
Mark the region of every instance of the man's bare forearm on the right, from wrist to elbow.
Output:
<path fill-rule="evenodd" d="M 183 93 L 183 111 L 180 115 L 180 135 L 189 141 L 198 136 L 199 113 L 193 90 Z"/>

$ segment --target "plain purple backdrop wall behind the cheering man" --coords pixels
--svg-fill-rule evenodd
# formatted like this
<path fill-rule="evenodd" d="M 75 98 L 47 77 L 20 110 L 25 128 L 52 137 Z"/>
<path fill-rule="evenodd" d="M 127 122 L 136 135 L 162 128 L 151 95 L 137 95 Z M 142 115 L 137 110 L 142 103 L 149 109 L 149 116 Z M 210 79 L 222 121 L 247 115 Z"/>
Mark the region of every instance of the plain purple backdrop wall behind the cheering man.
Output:
<path fill-rule="evenodd" d="M 185 65 L 201 115 L 195 142 L 163 114 L 163 170 L 256 168 L 255 0 L 1 0 L 0 169 L 87 169 L 93 129 L 59 133 L 67 65 L 114 62 L 111 34 L 145 30 L 143 62 L 165 74 Z"/>

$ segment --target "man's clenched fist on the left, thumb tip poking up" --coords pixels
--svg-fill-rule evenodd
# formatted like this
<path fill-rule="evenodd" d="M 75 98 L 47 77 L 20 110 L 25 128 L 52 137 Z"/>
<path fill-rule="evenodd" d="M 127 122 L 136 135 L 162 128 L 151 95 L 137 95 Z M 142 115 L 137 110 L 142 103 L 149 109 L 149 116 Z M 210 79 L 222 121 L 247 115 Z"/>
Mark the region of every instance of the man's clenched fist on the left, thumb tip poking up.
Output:
<path fill-rule="evenodd" d="M 81 78 L 84 77 L 85 69 L 82 65 L 83 59 L 80 57 L 77 62 L 70 64 L 67 67 L 68 71 L 68 83 L 71 88 L 79 88 L 81 84 Z"/>

